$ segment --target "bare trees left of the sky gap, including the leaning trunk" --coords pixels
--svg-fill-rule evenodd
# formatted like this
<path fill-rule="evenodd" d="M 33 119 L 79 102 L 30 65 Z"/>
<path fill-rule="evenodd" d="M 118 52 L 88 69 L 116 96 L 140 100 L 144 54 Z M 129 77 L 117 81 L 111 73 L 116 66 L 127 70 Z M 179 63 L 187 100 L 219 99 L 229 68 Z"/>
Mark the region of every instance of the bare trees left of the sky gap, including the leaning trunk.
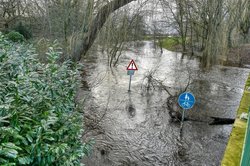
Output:
<path fill-rule="evenodd" d="M 110 65 L 115 65 L 123 43 L 144 35 L 139 10 L 131 13 L 130 8 L 123 8 L 113 12 L 130 1 L 1 0 L 0 28 L 3 32 L 18 31 L 36 41 L 57 39 L 65 57 L 75 61 L 95 42 L 108 54 Z"/>

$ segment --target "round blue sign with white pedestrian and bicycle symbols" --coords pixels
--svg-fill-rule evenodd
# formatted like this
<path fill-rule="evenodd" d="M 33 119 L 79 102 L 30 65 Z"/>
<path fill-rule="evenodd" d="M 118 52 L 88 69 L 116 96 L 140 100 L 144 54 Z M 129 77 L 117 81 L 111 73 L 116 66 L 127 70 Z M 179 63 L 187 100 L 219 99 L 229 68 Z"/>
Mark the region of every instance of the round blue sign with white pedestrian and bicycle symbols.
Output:
<path fill-rule="evenodd" d="M 178 98 L 178 104 L 183 109 L 190 109 L 194 106 L 195 97 L 192 93 L 184 92 Z"/>

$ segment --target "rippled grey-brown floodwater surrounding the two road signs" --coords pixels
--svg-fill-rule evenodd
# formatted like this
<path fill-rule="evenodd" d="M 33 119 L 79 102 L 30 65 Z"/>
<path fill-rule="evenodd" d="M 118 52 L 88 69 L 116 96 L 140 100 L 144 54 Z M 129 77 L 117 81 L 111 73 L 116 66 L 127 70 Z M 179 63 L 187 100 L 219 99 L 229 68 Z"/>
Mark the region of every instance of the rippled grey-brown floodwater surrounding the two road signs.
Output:
<path fill-rule="evenodd" d="M 154 49 L 152 42 L 132 43 L 117 67 L 107 67 L 99 52 L 83 61 L 84 140 L 94 139 L 86 166 L 218 166 L 232 125 L 209 125 L 210 116 L 235 118 L 249 70 L 215 66 L 202 71 L 195 58 Z M 135 60 L 138 71 L 129 76 L 126 66 Z M 169 96 L 157 84 L 148 86 L 149 75 L 171 93 L 189 82 L 196 104 L 186 111 L 183 130 L 166 107 Z M 190 80 L 190 81 L 189 81 Z"/>

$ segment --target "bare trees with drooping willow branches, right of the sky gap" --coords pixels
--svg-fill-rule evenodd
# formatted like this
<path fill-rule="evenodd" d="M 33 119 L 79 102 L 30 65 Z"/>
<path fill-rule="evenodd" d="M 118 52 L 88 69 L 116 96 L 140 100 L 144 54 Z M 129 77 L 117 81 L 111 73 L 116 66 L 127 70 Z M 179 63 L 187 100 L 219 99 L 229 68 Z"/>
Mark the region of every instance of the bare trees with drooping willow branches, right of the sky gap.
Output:
<path fill-rule="evenodd" d="M 209 67 L 228 60 L 231 48 L 249 43 L 248 0 L 161 0 L 167 23 L 178 32 L 184 52 L 202 55 Z M 234 56 L 240 59 L 239 52 Z"/>

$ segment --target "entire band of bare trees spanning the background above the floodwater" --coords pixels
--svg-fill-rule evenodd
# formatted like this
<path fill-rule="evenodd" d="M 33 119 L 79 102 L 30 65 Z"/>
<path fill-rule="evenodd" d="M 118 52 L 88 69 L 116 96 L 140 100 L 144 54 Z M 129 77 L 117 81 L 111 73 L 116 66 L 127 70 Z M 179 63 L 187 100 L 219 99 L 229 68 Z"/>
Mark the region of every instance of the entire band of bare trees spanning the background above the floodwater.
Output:
<path fill-rule="evenodd" d="M 110 66 L 117 64 L 124 42 L 147 33 L 166 35 L 164 28 L 180 37 L 184 53 L 202 56 L 204 67 L 228 60 L 231 48 L 249 43 L 248 0 L 132 1 L 1 0 L 0 27 L 17 30 L 26 38 L 58 39 L 76 61 L 98 43 Z M 161 19 L 148 25 L 146 18 L 154 19 L 159 9 Z M 239 60 L 239 53 L 235 54 Z"/>

